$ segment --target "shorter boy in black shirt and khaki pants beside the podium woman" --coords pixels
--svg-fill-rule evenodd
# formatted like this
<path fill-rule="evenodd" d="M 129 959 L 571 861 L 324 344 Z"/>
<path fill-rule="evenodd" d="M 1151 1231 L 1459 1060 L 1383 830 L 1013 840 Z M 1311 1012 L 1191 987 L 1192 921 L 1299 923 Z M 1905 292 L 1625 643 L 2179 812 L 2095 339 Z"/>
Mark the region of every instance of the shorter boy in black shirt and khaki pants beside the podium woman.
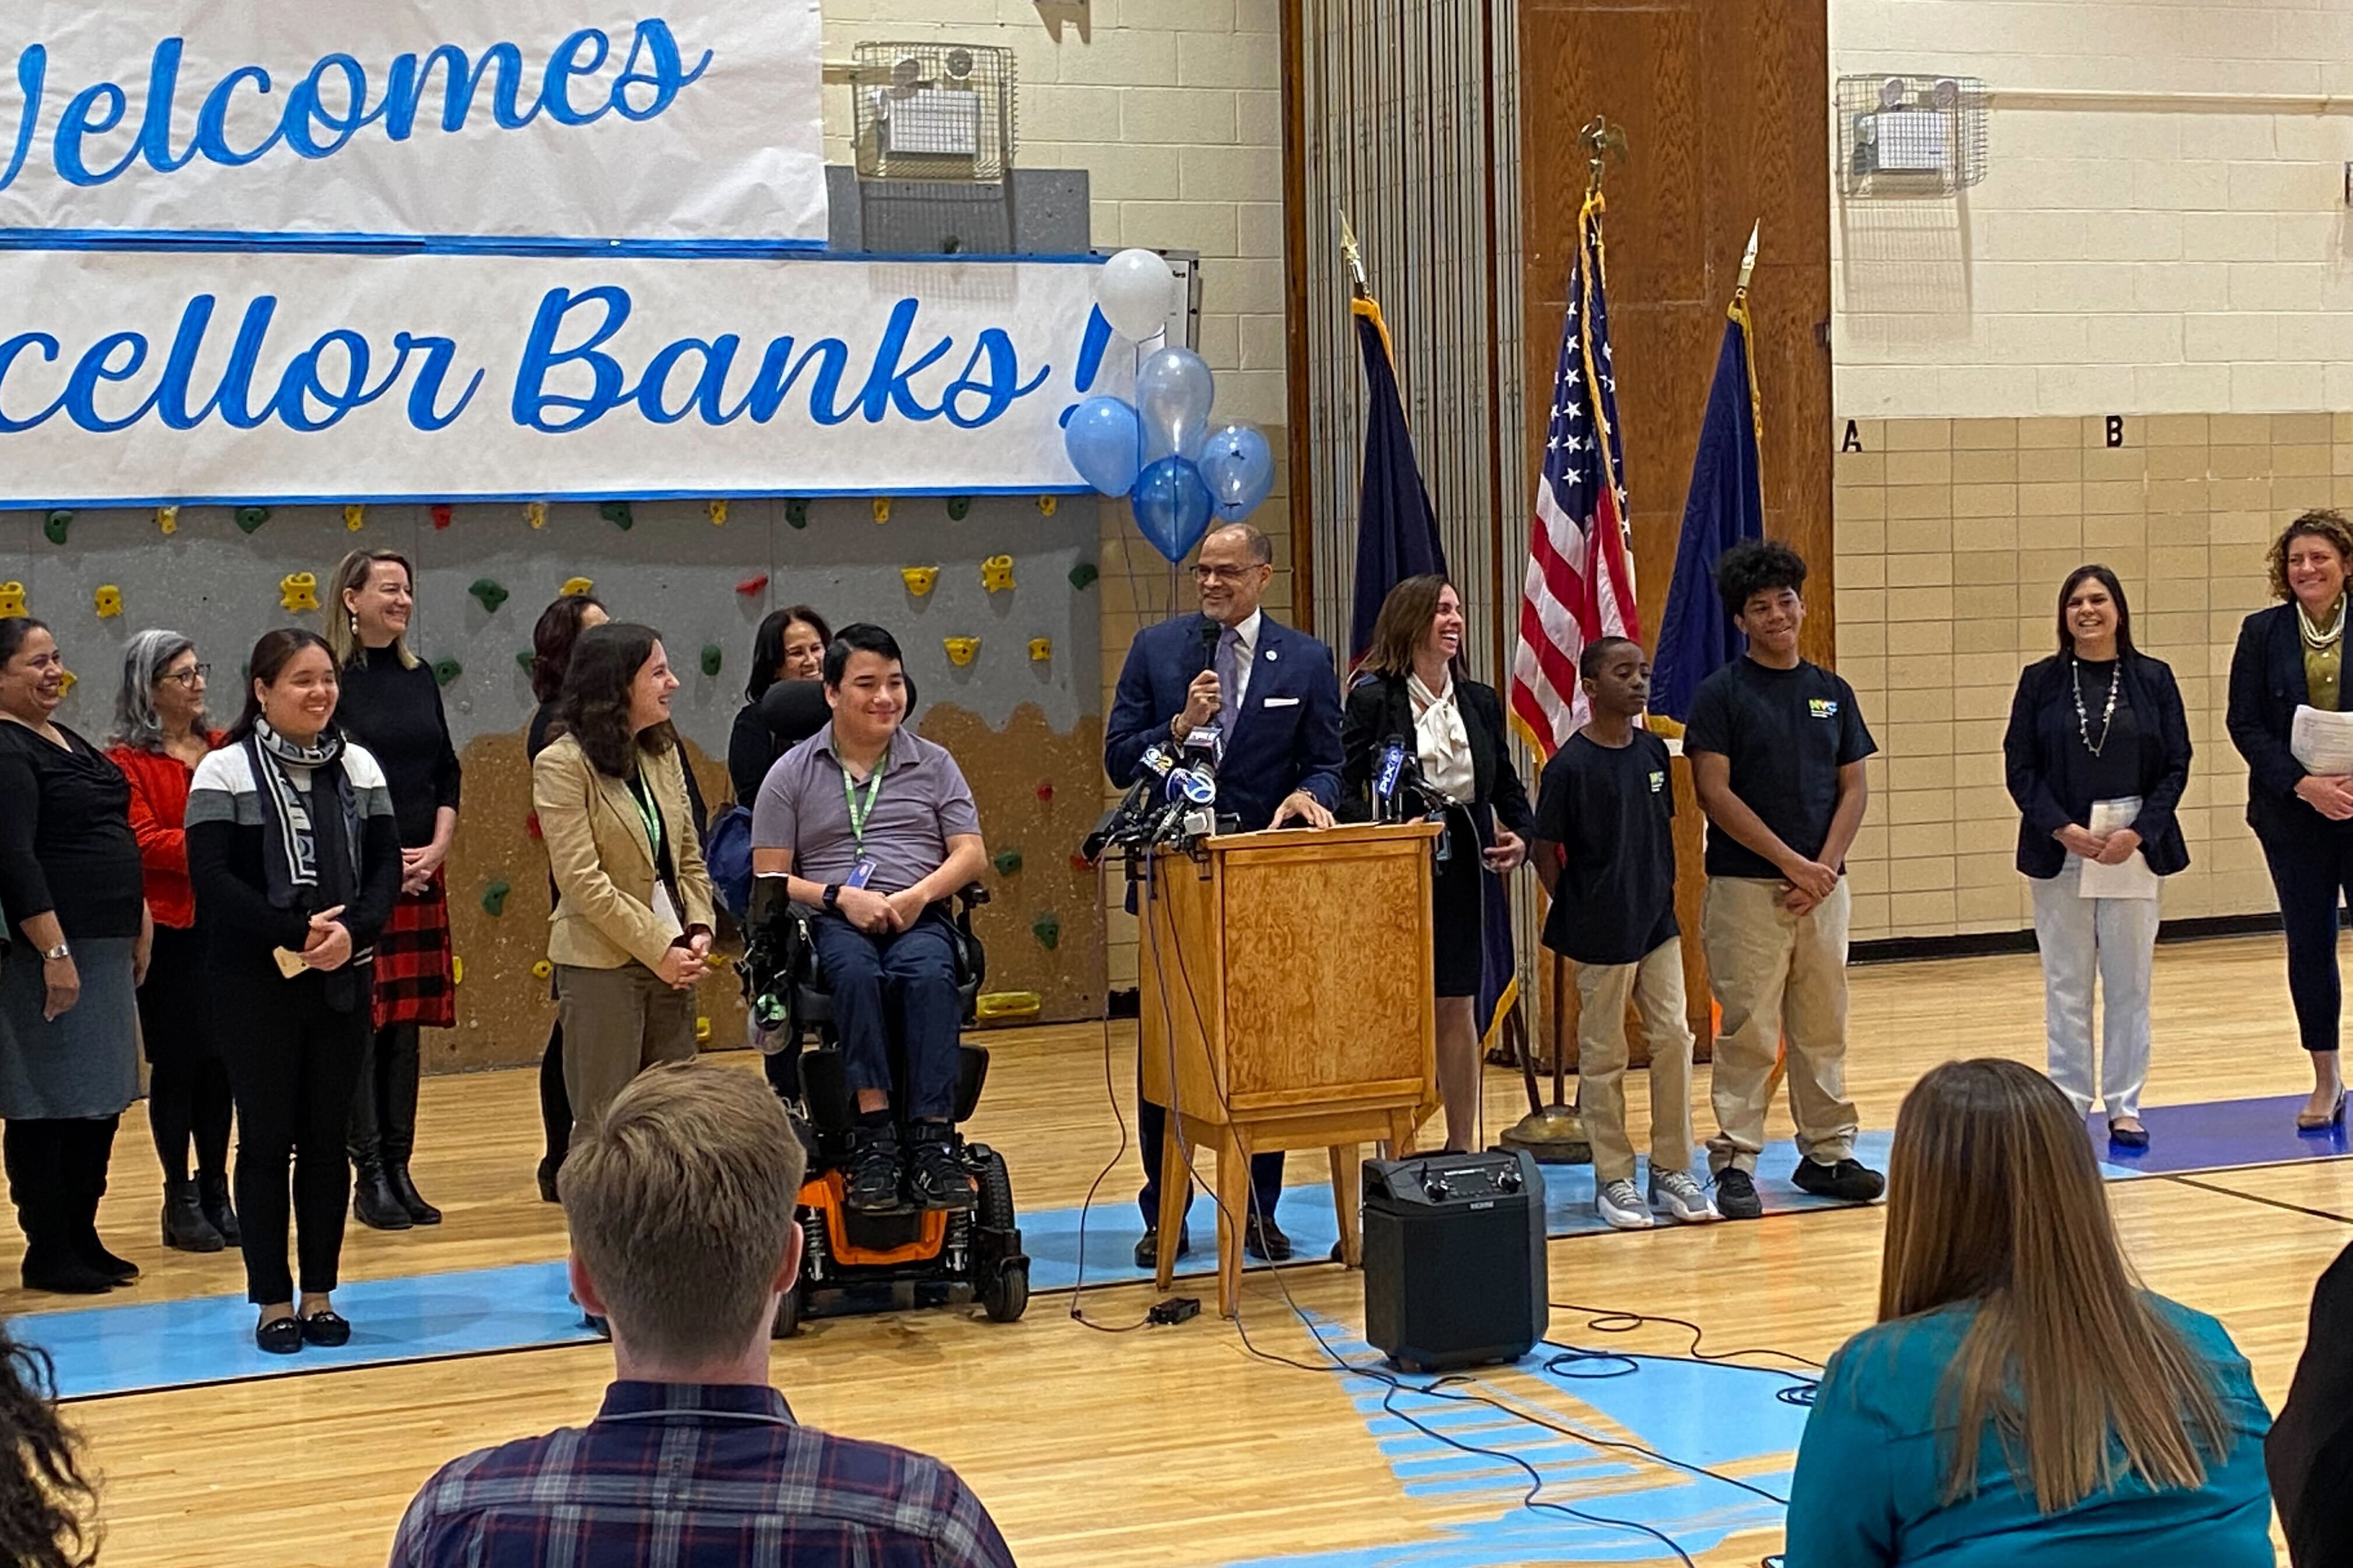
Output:
<path fill-rule="evenodd" d="M 1617 1229 L 1652 1211 L 1715 1220 L 1692 1180 L 1692 1030 L 1675 929 L 1675 788 L 1666 743 L 1635 729 L 1649 661 L 1624 637 L 1577 661 L 1593 719 L 1551 762 L 1537 797 L 1537 875 L 1551 879 L 1544 945 L 1577 964 L 1577 1110 L 1593 1143 L 1593 1208 Z M 1558 867 L 1558 872 L 1555 872 Z M 1649 1041 L 1649 1197 L 1626 1138 L 1626 997 Z"/>

